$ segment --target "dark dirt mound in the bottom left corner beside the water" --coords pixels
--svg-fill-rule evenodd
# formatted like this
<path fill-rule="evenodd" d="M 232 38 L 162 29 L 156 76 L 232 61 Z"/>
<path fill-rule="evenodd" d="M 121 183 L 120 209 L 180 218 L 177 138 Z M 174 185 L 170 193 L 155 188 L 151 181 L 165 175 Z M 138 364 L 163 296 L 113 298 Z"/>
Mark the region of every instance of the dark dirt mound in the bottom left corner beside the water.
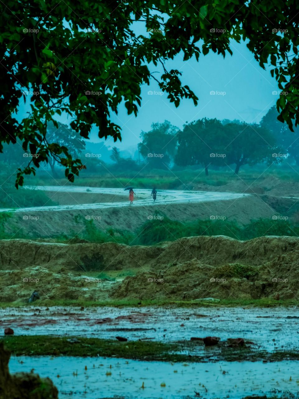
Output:
<path fill-rule="evenodd" d="M 57 388 L 51 379 L 33 373 L 10 375 L 9 359 L 10 352 L 0 342 L 0 399 L 58 399 Z"/>

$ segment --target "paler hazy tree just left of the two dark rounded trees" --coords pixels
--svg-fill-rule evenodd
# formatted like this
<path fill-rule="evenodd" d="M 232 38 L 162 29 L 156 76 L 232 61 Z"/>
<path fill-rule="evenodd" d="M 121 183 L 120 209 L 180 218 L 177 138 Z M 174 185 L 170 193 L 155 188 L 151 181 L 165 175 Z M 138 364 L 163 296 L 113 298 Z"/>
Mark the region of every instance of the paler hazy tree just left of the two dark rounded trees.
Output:
<path fill-rule="evenodd" d="M 150 168 L 165 169 L 173 161 L 177 130 L 177 127 L 165 120 L 163 123 L 153 123 L 149 132 L 141 132 L 139 150 Z"/>

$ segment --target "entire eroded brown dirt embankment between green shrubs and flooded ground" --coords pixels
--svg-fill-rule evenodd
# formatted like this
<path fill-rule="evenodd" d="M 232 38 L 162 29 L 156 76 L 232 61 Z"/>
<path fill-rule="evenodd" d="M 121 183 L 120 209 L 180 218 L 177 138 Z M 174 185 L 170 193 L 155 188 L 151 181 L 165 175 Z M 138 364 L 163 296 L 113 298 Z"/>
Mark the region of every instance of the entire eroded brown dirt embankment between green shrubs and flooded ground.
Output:
<path fill-rule="evenodd" d="M 299 238 L 187 237 L 160 246 L 0 241 L 0 301 L 28 298 L 195 300 L 299 297 Z M 144 272 L 122 282 L 87 279 L 87 271 Z M 38 281 L 35 281 L 38 280 Z"/>

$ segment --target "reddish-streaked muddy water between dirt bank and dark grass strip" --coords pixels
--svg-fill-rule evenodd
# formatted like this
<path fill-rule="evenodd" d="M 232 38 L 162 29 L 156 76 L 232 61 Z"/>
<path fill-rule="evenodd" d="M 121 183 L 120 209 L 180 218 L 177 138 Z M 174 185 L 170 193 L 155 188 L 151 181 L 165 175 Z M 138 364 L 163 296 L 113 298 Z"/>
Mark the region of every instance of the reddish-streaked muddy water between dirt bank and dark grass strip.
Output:
<path fill-rule="evenodd" d="M 288 308 L 139 308 L 30 306 L 0 310 L 0 331 L 15 335 L 68 335 L 129 340 L 153 338 L 162 342 L 191 337 L 241 337 L 267 351 L 299 349 L 299 312 Z"/>

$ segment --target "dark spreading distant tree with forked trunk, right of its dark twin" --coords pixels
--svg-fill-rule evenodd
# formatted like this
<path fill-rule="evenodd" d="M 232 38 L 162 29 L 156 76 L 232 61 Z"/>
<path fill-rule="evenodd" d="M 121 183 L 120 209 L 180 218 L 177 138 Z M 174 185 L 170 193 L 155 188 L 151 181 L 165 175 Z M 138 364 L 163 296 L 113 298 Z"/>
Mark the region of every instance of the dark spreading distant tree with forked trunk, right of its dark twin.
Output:
<path fill-rule="evenodd" d="M 236 164 L 235 174 L 242 165 L 278 162 L 276 140 L 271 132 L 258 124 L 228 123 L 224 126 L 226 163 Z"/>

